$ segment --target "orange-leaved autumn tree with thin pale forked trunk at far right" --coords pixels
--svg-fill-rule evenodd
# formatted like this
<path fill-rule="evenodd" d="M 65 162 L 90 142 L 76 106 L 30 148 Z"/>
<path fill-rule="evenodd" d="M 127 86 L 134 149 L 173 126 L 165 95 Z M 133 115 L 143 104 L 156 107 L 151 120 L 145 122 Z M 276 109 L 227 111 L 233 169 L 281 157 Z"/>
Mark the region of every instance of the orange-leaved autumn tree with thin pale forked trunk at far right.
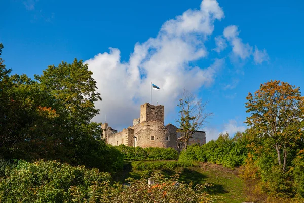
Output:
<path fill-rule="evenodd" d="M 286 82 L 270 81 L 260 85 L 254 95 L 246 97 L 246 122 L 265 145 L 272 146 L 277 153 L 283 171 L 286 171 L 290 150 L 303 141 L 301 122 L 304 118 L 304 97 L 300 88 Z"/>

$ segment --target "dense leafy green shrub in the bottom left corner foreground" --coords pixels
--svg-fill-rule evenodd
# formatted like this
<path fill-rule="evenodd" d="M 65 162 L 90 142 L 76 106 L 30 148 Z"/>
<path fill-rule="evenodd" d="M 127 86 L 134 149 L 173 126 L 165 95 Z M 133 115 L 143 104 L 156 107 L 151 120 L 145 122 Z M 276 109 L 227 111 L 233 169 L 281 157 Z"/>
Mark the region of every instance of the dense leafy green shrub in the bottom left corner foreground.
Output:
<path fill-rule="evenodd" d="M 101 187 L 111 176 L 98 169 L 70 166 L 56 161 L 19 161 L 0 182 L 0 202 L 71 202 L 72 188 L 90 198 L 89 187 Z"/>

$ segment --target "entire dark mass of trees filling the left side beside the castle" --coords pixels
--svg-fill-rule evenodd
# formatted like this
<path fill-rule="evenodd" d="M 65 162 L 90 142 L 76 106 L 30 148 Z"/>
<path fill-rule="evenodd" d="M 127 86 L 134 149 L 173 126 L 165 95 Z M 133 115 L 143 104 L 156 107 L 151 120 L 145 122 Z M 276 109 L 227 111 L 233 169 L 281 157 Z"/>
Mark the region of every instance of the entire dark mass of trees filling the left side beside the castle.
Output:
<path fill-rule="evenodd" d="M 122 168 L 122 154 L 101 139 L 100 123 L 91 122 L 101 98 L 87 64 L 51 65 L 35 80 L 10 71 L 0 59 L 0 158 Z"/>

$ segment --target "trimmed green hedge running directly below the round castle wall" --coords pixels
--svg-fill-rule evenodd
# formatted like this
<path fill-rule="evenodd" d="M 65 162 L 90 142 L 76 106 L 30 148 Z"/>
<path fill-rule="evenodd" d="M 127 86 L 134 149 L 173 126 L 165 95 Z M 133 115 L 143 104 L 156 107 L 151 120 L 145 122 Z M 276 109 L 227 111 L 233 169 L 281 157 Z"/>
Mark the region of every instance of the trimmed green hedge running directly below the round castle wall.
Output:
<path fill-rule="evenodd" d="M 130 147 L 126 145 L 115 146 L 122 154 L 124 160 L 177 160 L 178 152 L 173 148 L 159 148 L 159 147 Z"/>

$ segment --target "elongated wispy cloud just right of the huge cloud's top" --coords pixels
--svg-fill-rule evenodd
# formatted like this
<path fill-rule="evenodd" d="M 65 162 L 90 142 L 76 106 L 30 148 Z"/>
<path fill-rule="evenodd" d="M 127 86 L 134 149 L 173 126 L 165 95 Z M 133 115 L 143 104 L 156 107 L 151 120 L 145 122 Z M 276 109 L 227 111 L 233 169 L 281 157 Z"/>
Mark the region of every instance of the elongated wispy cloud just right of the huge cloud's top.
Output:
<path fill-rule="evenodd" d="M 239 33 L 236 25 L 230 25 L 224 29 L 223 35 L 232 45 L 233 53 L 241 59 L 246 59 L 252 54 L 252 47 L 248 43 L 242 42 Z"/>

